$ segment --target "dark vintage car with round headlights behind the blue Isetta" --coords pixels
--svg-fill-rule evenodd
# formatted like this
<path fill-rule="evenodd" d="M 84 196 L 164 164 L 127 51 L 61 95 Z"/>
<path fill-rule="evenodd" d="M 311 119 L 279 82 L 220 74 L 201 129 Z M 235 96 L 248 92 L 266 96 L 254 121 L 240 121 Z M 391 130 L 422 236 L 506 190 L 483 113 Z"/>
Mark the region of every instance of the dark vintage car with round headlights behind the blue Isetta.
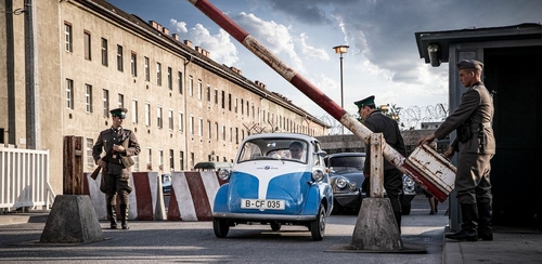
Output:
<path fill-rule="evenodd" d="M 333 212 L 358 212 L 366 197 L 361 185 L 364 181 L 365 153 L 339 153 L 325 157 L 333 188 Z M 400 194 L 402 214 L 410 214 L 411 202 L 416 196 L 414 181 L 403 175 L 403 192 Z"/>

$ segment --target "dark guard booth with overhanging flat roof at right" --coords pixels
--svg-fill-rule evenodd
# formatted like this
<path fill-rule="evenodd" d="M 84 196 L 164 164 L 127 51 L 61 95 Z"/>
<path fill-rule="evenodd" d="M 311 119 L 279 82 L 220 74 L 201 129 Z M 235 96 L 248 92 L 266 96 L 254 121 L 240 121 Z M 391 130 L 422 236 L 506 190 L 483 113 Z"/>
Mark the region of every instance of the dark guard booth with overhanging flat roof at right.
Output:
<path fill-rule="evenodd" d="M 542 176 L 538 162 L 542 134 L 542 26 L 416 32 L 425 63 L 449 63 L 450 111 L 457 108 L 465 88 L 456 63 L 465 58 L 483 62 L 482 81 L 493 93 L 493 130 L 496 154 L 491 160 L 493 225 L 542 227 Z M 455 138 L 455 132 L 451 141 Z M 456 164 L 457 155 L 453 163 Z M 450 195 L 450 226 L 461 229 L 459 204 Z"/>

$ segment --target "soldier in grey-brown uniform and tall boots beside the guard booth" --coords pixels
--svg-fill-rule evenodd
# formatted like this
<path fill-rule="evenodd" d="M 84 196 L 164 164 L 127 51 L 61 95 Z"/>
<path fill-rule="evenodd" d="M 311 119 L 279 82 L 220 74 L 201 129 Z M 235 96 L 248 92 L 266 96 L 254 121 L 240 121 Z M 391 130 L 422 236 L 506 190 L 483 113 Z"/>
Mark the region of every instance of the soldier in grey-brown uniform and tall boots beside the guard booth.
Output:
<path fill-rule="evenodd" d="M 446 235 L 455 240 L 493 240 L 491 229 L 490 160 L 495 154 L 495 140 L 491 122 L 493 100 L 481 82 L 483 64 L 476 60 L 457 63 L 461 83 L 467 89 L 457 109 L 449 116 L 435 133 L 420 140 L 418 144 L 442 140 L 452 131 L 457 136 L 444 153 L 448 158 L 460 153 L 455 176 L 455 192 L 461 206 L 462 229 Z"/>

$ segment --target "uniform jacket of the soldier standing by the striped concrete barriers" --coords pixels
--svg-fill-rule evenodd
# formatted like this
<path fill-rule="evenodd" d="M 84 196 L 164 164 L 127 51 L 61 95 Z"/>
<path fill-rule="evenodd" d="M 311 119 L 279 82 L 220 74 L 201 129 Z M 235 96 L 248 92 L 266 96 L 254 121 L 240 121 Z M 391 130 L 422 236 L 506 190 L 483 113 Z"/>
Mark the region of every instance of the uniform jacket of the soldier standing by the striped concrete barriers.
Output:
<path fill-rule="evenodd" d="M 126 151 L 117 153 L 114 156 L 111 155 L 114 144 L 122 145 Z M 105 173 L 108 174 L 119 174 L 122 172 L 122 169 L 128 169 L 133 164 L 131 156 L 136 156 L 141 151 L 136 134 L 131 130 L 124 128 L 115 130 L 113 127 L 100 132 L 96 143 L 92 147 L 94 162 L 102 157 L 102 149 L 106 154 L 109 154 L 109 160 L 104 160 L 107 162 L 107 171 Z"/>

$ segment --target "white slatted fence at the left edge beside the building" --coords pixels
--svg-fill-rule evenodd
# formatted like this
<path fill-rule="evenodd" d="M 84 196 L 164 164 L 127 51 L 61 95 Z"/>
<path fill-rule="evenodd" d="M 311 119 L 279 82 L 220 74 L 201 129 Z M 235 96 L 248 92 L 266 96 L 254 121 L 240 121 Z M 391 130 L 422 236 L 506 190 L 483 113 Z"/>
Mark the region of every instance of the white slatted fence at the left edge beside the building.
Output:
<path fill-rule="evenodd" d="M 0 209 L 49 209 L 54 200 L 49 183 L 49 150 L 0 145 Z"/>

